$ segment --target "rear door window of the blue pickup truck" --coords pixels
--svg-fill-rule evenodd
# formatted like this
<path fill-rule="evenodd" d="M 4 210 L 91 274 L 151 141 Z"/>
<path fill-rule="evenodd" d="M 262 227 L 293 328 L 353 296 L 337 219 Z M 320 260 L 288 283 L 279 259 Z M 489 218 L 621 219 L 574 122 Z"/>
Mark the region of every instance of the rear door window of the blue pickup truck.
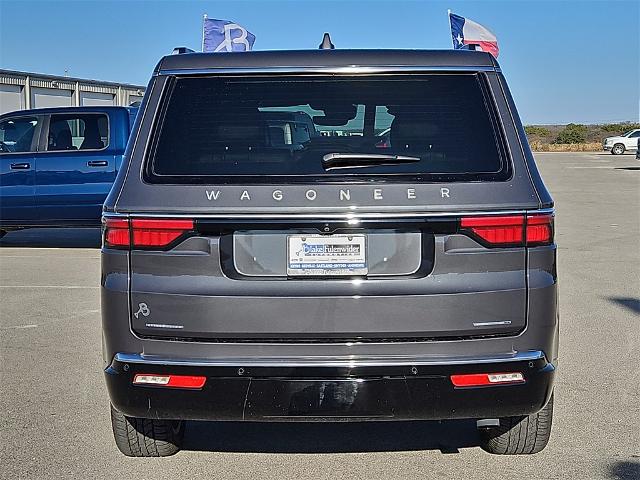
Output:
<path fill-rule="evenodd" d="M 102 150 L 109 145 L 109 117 L 104 114 L 51 115 L 47 150 Z"/>

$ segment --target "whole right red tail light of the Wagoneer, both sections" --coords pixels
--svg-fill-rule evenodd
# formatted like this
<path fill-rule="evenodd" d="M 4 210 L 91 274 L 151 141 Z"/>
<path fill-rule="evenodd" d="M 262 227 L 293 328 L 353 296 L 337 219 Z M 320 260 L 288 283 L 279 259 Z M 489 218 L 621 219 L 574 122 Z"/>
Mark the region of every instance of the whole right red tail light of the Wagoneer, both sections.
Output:
<path fill-rule="evenodd" d="M 460 229 L 489 247 L 553 243 L 553 214 L 463 217 Z"/>

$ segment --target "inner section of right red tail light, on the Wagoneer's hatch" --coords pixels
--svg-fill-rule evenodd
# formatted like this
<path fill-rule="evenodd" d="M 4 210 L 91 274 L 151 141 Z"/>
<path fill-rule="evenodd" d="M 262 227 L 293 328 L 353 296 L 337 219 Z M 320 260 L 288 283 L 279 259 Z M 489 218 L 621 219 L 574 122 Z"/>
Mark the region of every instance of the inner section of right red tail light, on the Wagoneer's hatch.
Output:
<path fill-rule="evenodd" d="M 490 245 L 522 245 L 524 215 L 465 217 L 460 227 Z"/>

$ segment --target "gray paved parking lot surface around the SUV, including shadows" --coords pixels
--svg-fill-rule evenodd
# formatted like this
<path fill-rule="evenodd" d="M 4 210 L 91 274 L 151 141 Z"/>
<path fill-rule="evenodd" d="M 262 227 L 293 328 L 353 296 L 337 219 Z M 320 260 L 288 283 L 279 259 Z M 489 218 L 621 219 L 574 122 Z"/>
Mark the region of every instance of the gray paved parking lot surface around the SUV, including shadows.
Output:
<path fill-rule="evenodd" d="M 100 232 L 0 240 L 0 478 L 640 479 L 640 162 L 537 154 L 556 200 L 553 433 L 480 450 L 473 422 L 187 424 L 176 456 L 116 449 L 100 350 Z"/>

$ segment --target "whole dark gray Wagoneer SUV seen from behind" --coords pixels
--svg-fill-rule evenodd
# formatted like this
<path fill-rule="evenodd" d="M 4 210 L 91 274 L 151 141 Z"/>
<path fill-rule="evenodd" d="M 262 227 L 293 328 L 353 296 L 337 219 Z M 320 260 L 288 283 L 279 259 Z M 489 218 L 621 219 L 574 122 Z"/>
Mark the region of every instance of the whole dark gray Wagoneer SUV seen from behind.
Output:
<path fill-rule="evenodd" d="M 102 249 L 125 455 L 175 453 L 189 419 L 474 419 L 489 452 L 545 447 L 553 201 L 489 54 L 167 56 L 125 157 Z"/>

